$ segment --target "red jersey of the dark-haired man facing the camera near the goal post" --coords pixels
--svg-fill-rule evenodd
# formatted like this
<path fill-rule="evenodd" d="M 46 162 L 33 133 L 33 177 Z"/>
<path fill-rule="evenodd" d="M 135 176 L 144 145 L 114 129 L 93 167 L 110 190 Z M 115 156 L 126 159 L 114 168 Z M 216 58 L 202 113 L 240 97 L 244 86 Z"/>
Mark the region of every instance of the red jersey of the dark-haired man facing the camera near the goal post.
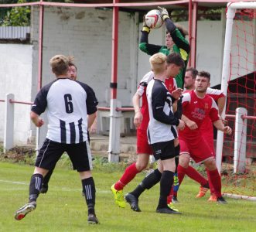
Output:
<path fill-rule="evenodd" d="M 183 131 L 179 131 L 180 138 L 188 138 L 196 140 L 201 135 L 200 128 L 205 118 L 209 117 L 211 121 L 220 119 L 216 102 L 209 95 L 200 98 L 196 96 L 194 90 L 183 94 L 183 114 L 192 121 L 196 122 L 198 128 L 191 131 L 185 127 Z M 193 136 L 191 134 L 193 133 Z"/>

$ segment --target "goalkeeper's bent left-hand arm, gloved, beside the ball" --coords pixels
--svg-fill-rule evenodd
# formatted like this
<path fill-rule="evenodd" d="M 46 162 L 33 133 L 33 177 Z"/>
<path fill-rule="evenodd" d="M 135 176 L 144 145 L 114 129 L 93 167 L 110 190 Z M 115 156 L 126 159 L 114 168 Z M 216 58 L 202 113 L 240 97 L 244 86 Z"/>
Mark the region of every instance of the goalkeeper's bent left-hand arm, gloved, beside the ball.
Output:
<path fill-rule="evenodd" d="M 150 28 L 145 24 L 145 15 L 144 15 L 144 17 L 143 17 L 143 27 L 142 27 L 142 36 L 141 36 L 138 48 L 143 53 L 147 53 L 149 56 L 152 56 L 155 53 L 159 53 L 159 50 L 162 48 L 162 46 L 148 43 L 148 34 L 149 34 L 149 32 L 150 32 Z"/>

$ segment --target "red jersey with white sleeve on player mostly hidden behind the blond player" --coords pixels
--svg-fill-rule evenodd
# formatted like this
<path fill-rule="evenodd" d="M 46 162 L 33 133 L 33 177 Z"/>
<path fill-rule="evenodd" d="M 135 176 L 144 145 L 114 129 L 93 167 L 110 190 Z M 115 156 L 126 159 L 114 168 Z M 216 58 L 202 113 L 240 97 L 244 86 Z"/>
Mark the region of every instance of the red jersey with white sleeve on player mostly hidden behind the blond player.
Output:
<path fill-rule="evenodd" d="M 142 97 L 141 112 L 143 115 L 142 124 L 140 125 L 139 129 L 145 130 L 145 131 L 148 128 L 148 122 L 149 122 L 148 100 L 146 96 L 146 90 L 147 90 L 148 82 L 153 78 L 154 78 L 154 73 L 152 71 L 146 73 L 145 76 L 140 81 L 138 90 L 137 90 L 137 94 Z M 172 91 L 176 90 L 177 88 L 176 80 L 172 77 L 170 77 L 169 79 L 166 79 L 165 84 L 170 93 L 172 93 Z"/>

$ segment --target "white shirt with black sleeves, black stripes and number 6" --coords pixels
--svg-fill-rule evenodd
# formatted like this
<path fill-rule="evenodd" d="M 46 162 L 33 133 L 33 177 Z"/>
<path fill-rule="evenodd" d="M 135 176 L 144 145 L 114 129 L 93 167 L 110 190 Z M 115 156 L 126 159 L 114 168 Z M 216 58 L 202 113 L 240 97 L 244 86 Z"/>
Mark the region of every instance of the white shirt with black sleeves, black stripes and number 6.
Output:
<path fill-rule="evenodd" d="M 49 121 L 46 138 L 60 143 L 87 141 L 87 114 L 97 111 L 94 90 L 80 81 L 57 79 L 36 95 L 31 111 L 46 111 Z"/>

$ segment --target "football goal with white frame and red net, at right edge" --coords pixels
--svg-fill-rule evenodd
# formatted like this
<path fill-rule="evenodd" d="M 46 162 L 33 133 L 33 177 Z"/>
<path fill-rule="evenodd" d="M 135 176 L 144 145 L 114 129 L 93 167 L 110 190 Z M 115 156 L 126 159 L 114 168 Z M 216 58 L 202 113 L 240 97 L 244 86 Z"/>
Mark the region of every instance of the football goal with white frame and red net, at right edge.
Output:
<path fill-rule="evenodd" d="M 221 89 L 232 135 L 217 136 L 223 192 L 256 200 L 256 2 L 229 3 Z"/>

